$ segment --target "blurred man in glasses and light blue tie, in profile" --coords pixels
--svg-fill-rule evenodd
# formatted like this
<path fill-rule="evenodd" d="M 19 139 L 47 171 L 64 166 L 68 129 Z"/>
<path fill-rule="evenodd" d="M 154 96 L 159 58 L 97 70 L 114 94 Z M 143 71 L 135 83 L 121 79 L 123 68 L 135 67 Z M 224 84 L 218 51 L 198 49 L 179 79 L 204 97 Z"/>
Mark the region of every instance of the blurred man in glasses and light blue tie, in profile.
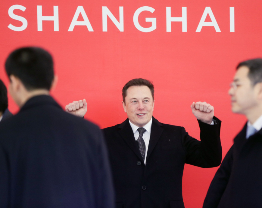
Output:
<path fill-rule="evenodd" d="M 239 63 L 229 95 L 232 112 L 248 122 L 217 170 L 203 207 L 262 207 L 262 59 Z"/>

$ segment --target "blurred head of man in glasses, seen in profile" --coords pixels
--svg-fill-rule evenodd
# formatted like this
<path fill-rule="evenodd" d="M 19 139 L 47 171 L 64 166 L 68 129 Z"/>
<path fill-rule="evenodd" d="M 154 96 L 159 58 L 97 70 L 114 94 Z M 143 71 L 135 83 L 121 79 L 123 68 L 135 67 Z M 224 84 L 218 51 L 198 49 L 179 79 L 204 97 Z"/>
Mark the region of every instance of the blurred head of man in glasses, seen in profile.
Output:
<path fill-rule="evenodd" d="M 251 120 L 262 114 L 262 59 L 239 63 L 229 95 L 234 113 L 244 114 Z"/>

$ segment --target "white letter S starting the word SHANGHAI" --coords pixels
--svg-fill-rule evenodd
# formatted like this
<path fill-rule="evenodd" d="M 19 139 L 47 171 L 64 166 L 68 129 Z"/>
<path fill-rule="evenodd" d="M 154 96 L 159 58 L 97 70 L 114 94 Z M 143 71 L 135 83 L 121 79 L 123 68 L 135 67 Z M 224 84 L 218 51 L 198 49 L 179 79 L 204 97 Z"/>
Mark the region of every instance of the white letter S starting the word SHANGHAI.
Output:
<path fill-rule="evenodd" d="M 11 17 L 14 20 L 18 20 L 18 21 L 22 22 L 22 26 L 16 27 L 16 26 L 13 26 L 12 24 L 9 24 L 8 28 L 11 29 L 11 30 L 14 30 L 14 31 L 23 31 L 27 28 L 27 20 L 24 17 L 21 17 L 21 16 L 14 14 L 15 9 L 20 9 L 22 11 L 25 11 L 26 8 L 22 5 L 13 5 L 8 9 L 9 17 Z"/>

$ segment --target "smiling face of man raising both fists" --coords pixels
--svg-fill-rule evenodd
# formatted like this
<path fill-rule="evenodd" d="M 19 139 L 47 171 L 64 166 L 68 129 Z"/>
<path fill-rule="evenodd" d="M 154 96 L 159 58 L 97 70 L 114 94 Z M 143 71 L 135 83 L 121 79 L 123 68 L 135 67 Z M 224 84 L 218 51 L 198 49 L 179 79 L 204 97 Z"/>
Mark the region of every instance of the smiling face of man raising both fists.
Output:
<path fill-rule="evenodd" d="M 122 104 L 130 122 L 138 127 L 146 125 L 153 116 L 154 100 L 147 86 L 129 87 Z"/>

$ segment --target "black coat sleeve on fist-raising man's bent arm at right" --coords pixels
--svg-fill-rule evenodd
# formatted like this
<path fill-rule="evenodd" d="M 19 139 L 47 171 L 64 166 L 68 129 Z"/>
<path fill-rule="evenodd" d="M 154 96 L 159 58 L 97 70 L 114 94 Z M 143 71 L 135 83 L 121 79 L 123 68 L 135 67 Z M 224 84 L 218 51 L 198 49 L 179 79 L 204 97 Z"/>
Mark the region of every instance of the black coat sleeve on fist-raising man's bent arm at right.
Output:
<path fill-rule="evenodd" d="M 220 165 L 222 160 L 221 121 L 216 117 L 214 117 L 214 121 L 214 125 L 198 121 L 201 141 L 190 137 L 185 130 L 182 132 L 187 164 L 198 167 L 217 167 Z"/>

